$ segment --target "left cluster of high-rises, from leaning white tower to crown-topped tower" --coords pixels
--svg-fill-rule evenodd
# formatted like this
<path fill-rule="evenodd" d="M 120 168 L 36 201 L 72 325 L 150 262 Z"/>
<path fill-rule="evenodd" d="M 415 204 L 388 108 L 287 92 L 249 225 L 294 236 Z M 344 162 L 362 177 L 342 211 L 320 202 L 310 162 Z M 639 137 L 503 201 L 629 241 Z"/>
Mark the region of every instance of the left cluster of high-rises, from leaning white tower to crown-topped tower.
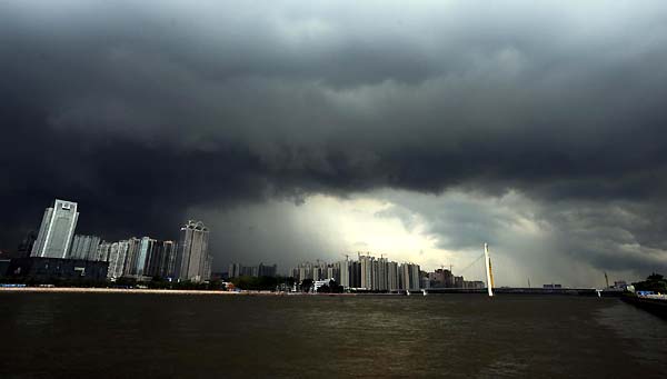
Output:
<path fill-rule="evenodd" d="M 150 237 L 108 242 L 97 236 L 74 236 L 78 218 L 76 202 L 56 200 L 53 207 L 44 211 L 37 239 L 23 241 L 23 245 L 32 243 L 30 256 L 108 262 L 110 279 L 210 279 L 209 230 L 201 221 L 189 220 L 181 228 L 178 242 Z"/>

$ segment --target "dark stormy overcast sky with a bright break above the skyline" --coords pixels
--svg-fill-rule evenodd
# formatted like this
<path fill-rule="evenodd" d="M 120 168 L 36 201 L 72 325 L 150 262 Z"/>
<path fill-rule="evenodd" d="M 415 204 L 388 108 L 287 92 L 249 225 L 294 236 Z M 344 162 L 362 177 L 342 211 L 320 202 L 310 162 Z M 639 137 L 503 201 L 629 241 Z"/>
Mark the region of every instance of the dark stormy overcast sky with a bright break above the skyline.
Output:
<path fill-rule="evenodd" d="M 667 268 L 664 1 L 2 1 L 0 57 L 3 250 L 61 198 L 216 270 Z"/>

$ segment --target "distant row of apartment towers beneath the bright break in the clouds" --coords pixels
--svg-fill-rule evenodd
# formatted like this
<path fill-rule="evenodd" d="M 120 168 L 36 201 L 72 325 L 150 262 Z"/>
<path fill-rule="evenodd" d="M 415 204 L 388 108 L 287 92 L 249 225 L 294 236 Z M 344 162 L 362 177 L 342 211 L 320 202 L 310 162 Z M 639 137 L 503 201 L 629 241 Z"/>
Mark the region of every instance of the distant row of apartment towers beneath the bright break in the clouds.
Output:
<path fill-rule="evenodd" d="M 376 258 L 358 253 L 358 259 L 341 260 L 335 263 L 305 262 L 291 270 L 298 281 L 334 279 L 345 289 L 356 288 L 369 291 L 418 290 L 421 272 L 415 263 L 398 263 L 387 258 Z"/>

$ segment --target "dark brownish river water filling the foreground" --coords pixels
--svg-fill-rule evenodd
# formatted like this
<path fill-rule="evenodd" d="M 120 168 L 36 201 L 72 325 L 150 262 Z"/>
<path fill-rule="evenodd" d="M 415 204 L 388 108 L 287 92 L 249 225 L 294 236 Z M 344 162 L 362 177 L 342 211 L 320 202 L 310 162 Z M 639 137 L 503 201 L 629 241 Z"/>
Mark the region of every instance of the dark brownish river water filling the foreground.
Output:
<path fill-rule="evenodd" d="M 0 377 L 667 377 L 667 321 L 569 296 L 0 293 Z"/>

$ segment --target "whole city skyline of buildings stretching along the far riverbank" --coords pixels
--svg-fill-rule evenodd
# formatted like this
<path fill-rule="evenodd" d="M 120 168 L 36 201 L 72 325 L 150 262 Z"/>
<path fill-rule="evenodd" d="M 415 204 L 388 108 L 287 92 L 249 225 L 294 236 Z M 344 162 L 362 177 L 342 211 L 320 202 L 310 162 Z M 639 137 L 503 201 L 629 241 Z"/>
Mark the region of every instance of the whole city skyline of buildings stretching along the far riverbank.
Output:
<path fill-rule="evenodd" d="M 32 251 L 30 256 L 38 257 L 34 255 L 34 251 L 41 251 L 44 249 L 43 242 L 41 247 L 38 246 L 38 243 L 41 240 L 46 239 L 46 237 L 42 237 L 42 239 L 40 240 L 40 236 L 48 236 L 50 233 L 49 228 L 52 227 L 53 220 L 56 219 L 54 215 L 57 215 L 57 212 L 54 212 L 53 209 L 58 209 L 57 207 L 60 207 L 62 211 L 66 212 L 66 217 L 61 217 L 60 221 L 63 225 L 66 225 L 67 228 L 62 228 L 67 229 L 69 235 L 63 236 L 70 236 L 70 241 L 68 241 L 66 237 L 58 238 L 59 243 L 69 245 L 69 249 L 64 250 L 64 252 L 62 253 L 58 252 L 58 257 L 51 258 L 106 261 L 109 263 L 108 278 L 112 278 L 113 280 L 121 277 L 141 279 L 155 276 L 160 278 L 168 278 L 170 280 L 173 279 L 203 281 L 208 280 L 208 278 L 211 277 L 211 273 L 213 271 L 213 256 L 208 250 L 208 228 L 203 225 L 203 222 L 188 220 L 188 222 L 186 222 L 186 225 L 180 228 L 180 243 L 171 240 L 157 240 L 148 236 L 143 236 L 141 238 L 130 237 L 127 240 L 110 242 L 103 240 L 99 236 L 76 235 L 74 229 L 68 229 L 69 227 L 74 228 L 77 225 L 79 217 L 79 212 L 77 212 L 78 205 L 77 202 L 59 199 L 54 200 L 53 208 L 46 209 L 42 222 L 40 225 L 39 233 L 30 231 L 27 235 L 26 239 L 23 239 L 22 242 L 19 245 L 18 251 L 21 251 L 21 249 L 28 249 L 28 251 Z M 71 211 L 72 213 L 68 213 L 69 211 Z M 28 239 L 30 239 L 32 236 L 34 236 L 34 240 L 29 241 Z M 28 245 L 28 247 L 26 248 L 24 245 Z M 421 271 L 419 265 L 414 265 L 412 262 L 407 261 L 404 261 L 402 263 L 389 261 L 387 258 L 385 258 L 385 255 L 380 255 L 380 258 L 376 259 L 376 257 L 371 256 L 369 251 L 365 252 L 365 255 L 362 255 L 360 251 L 357 251 L 357 255 L 359 256 L 358 261 L 348 261 L 349 255 L 342 253 L 342 256 L 346 257 L 346 261 L 348 261 L 351 265 L 349 267 L 349 273 L 345 275 L 340 273 L 342 272 L 342 270 L 338 267 L 336 269 L 338 271 L 336 271 L 337 273 L 335 276 L 332 273 L 335 272 L 332 271 L 332 266 L 328 267 L 329 271 L 320 272 L 320 275 L 318 273 L 318 271 L 312 271 L 312 268 L 315 266 L 312 266 L 312 263 L 309 262 L 306 263 L 308 266 L 308 275 L 305 275 L 302 269 L 295 268 L 289 269 L 287 271 L 279 271 L 277 270 L 277 265 L 262 266 L 261 262 L 259 263 L 259 266 L 242 266 L 232 262 L 229 265 L 229 267 L 220 266 L 221 269 L 218 270 L 217 273 L 219 275 L 221 272 L 227 272 L 229 277 L 233 277 L 235 273 L 239 273 L 240 276 L 252 277 L 261 277 L 263 275 L 282 275 L 287 277 L 291 276 L 299 280 L 302 280 L 303 278 L 319 278 L 316 279 L 316 281 L 320 279 L 331 279 L 336 277 L 339 280 L 347 280 L 348 282 L 354 282 L 358 285 L 358 288 L 382 291 L 397 289 L 419 289 L 419 281 L 421 279 L 428 278 L 432 281 L 432 275 L 438 275 L 437 272 L 442 272 L 444 270 L 442 267 L 442 270 L 432 269 L 432 272 Z M 225 259 L 227 258 L 222 259 L 221 265 L 223 265 Z M 475 261 L 477 261 L 479 257 Z M 319 262 L 320 260 L 316 259 L 316 261 Z M 468 265 L 466 267 L 466 270 L 470 269 L 470 267 L 475 265 L 475 261 L 472 261 L 471 265 Z M 326 263 L 323 265 L 326 266 Z M 341 261 L 337 261 L 335 265 L 341 265 Z M 355 267 L 355 265 L 357 265 L 358 267 Z M 262 267 L 265 270 L 263 273 L 261 272 Z M 222 268 L 228 268 L 228 271 L 222 271 Z M 372 271 L 378 269 L 380 269 L 379 272 Z M 358 271 L 358 278 L 354 278 L 351 275 L 351 272 L 355 270 Z M 462 276 L 452 276 L 454 271 L 451 270 L 451 265 L 450 269 L 445 271 L 449 272 L 449 275 L 452 278 L 451 280 L 457 279 L 461 281 L 460 283 L 457 282 L 456 287 L 466 288 L 462 283 Z M 604 275 L 605 279 L 607 279 L 607 272 L 604 272 Z M 382 278 L 384 280 L 390 281 L 377 281 L 378 278 Z M 395 278 L 396 280 L 391 281 Z M 484 283 L 484 280 L 479 280 L 484 279 L 482 277 L 475 277 L 475 279 L 478 280 L 475 280 L 474 283 Z M 528 277 L 526 279 L 529 283 L 530 278 Z M 417 283 L 415 280 L 417 281 Z M 551 281 L 551 283 L 552 282 L 554 281 Z M 347 286 L 344 287 L 348 288 Z M 530 287 L 530 285 L 528 285 L 528 287 Z M 568 287 L 568 285 L 566 285 L 566 287 Z"/>

